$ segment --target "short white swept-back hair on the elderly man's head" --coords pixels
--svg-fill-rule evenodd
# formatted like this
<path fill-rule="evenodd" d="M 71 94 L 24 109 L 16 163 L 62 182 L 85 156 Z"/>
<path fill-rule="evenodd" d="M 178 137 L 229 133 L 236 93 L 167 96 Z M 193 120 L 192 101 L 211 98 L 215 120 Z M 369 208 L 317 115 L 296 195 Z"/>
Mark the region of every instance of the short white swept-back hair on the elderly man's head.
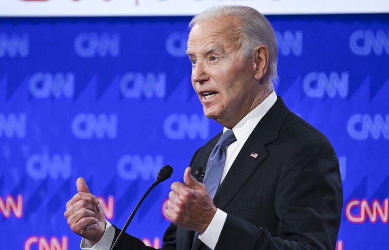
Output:
<path fill-rule="evenodd" d="M 270 22 L 257 10 L 247 6 L 221 5 L 208 8 L 195 15 L 189 23 L 191 29 L 200 21 L 207 21 L 223 16 L 236 16 L 241 21 L 242 37 L 240 51 L 244 56 L 252 56 L 258 45 L 265 45 L 269 51 L 269 71 L 265 75 L 265 82 L 269 91 L 277 84 L 277 41 Z"/>

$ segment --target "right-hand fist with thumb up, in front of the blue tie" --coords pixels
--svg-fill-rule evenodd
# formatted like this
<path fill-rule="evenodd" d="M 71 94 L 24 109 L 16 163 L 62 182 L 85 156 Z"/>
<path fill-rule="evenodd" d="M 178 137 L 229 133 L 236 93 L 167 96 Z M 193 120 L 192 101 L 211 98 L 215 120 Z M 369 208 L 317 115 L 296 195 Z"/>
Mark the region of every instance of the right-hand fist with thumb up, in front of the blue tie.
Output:
<path fill-rule="evenodd" d="M 191 168 L 185 170 L 184 183 L 172 184 L 166 216 L 174 224 L 202 234 L 212 221 L 216 207 L 205 185 L 192 176 Z"/>

